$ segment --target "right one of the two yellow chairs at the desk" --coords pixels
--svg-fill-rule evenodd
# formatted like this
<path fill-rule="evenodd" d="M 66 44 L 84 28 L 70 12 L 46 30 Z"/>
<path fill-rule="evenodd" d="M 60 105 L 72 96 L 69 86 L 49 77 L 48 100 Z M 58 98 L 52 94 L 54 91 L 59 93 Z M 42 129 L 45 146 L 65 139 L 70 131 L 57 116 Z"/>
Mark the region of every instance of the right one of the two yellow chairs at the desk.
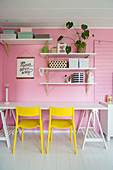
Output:
<path fill-rule="evenodd" d="M 72 119 L 52 119 L 51 116 L 55 116 L 55 117 L 72 116 Z M 58 129 L 70 128 L 71 142 L 72 142 L 72 128 L 73 128 L 75 154 L 77 154 L 74 107 L 66 107 L 66 108 L 50 107 L 49 108 L 49 129 L 48 129 L 48 141 L 47 141 L 47 154 L 49 151 L 49 138 L 50 138 L 50 141 L 52 141 L 53 127 L 58 128 Z M 51 130 L 51 137 L 50 137 L 50 130 Z"/>

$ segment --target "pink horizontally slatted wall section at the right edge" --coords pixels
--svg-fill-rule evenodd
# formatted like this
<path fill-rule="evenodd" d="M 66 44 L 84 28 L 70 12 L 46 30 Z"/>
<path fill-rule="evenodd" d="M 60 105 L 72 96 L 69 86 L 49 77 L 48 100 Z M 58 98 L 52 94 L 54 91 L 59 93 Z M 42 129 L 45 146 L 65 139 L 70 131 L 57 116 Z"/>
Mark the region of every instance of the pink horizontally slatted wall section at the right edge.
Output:
<path fill-rule="evenodd" d="M 113 95 L 113 43 L 96 42 L 96 101 Z"/>

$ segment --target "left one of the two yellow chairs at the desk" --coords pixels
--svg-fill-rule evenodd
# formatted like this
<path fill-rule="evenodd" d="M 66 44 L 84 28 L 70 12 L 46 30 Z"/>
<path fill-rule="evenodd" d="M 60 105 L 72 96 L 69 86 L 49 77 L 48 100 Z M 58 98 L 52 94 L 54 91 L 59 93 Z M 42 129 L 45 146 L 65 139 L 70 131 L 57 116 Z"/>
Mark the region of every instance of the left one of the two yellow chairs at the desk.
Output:
<path fill-rule="evenodd" d="M 19 116 L 24 116 L 24 117 L 39 116 L 39 119 L 22 119 L 19 122 L 18 121 Z M 41 153 L 43 154 L 43 124 L 41 118 L 41 107 L 16 107 L 16 127 L 15 127 L 15 136 L 14 136 L 13 154 L 15 154 L 17 129 L 19 127 L 22 128 L 21 141 L 23 141 L 24 129 L 32 129 L 32 128 L 40 127 Z"/>

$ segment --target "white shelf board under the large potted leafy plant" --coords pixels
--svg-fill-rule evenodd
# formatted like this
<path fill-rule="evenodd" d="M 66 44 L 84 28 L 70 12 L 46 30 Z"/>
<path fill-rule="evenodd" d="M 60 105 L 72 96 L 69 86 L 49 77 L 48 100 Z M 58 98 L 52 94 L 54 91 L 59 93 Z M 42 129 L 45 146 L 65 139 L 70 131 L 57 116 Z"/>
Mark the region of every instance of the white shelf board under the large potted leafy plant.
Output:
<path fill-rule="evenodd" d="M 67 54 L 67 53 L 40 53 L 40 55 L 42 56 L 42 57 L 46 57 L 47 55 L 48 56 L 50 56 L 50 57 L 64 57 L 64 56 L 69 56 L 69 57 L 78 57 L 78 56 L 80 56 L 80 57 L 86 57 L 86 56 L 88 56 L 88 55 L 90 55 L 90 56 L 94 56 L 94 55 L 96 55 L 96 53 L 69 53 L 69 54 Z"/>

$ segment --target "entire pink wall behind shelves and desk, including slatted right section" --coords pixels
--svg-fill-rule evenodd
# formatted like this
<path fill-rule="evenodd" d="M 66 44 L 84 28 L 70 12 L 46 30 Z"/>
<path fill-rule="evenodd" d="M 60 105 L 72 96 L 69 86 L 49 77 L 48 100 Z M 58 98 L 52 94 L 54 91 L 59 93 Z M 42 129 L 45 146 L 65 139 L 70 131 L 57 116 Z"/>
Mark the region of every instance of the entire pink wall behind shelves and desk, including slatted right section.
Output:
<path fill-rule="evenodd" d="M 18 31 L 18 30 L 16 30 Z M 67 29 L 42 29 L 34 30 L 34 33 L 49 33 L 53 38 L 52 46 L 57 45 L 57 38 L 60 35 L 71 36 L 76 38 L 74 30 Z M 95 39 L 113 41 L 112 29 L 92 29 L 91 33 L 95 34 Z M 68 45 L 72 43 L 64 39 Z M 99 102 L 105 101 L 105 95 L 112 94 L 113 80 L 113 44 L 98 43 L 95 44 L 95 81 L 96 85 L 89 88 L 88 95 L 85 93 L 85 86 L 49 86 L 49 96 L 46 95 L 44 85 L 40 82 L 46 81 L 46 76 L 39 75 L 39 67 L 46 66 L 46 58 L 40 56 L 43 45 L 10 45 L 9 56 L 6 55 L 5 49 L 2 48 L 2 100 L 5 101 L 4 84 L 9 83 L 9 101 L 38 101 L 38 102 Z M 73 46 L 73 52 L 76 52 Z M 93 39 L 87 41 L 87 51 L 93 52 Z M 34 79 L 24 80 L 16 79 L 17 57 L 35 57 Z M 71 74 L 63 72 L 51 72 L 49 79 L 52 82 L 64 82 L 64 75 Z M 48 114 L 43 112 L 44 129 L 47 130 Z M 79 112 L 76 113 L 76 123 L 78 125 Z"/>

